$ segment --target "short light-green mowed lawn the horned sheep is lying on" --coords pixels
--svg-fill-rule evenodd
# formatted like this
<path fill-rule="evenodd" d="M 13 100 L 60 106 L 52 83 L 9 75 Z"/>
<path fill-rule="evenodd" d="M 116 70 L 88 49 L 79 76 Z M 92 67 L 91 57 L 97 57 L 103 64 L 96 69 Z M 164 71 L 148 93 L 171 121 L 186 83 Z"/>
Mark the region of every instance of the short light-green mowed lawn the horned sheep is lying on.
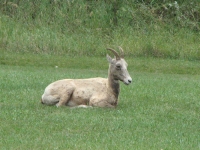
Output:
<path fill-rule="evenodd" d="M 45 87 L 107 69 L 0 65 L 0 149 L 200 149 L 200 75 L 128 69 L 116 109 L 71 109 L 40 104 Z"/>

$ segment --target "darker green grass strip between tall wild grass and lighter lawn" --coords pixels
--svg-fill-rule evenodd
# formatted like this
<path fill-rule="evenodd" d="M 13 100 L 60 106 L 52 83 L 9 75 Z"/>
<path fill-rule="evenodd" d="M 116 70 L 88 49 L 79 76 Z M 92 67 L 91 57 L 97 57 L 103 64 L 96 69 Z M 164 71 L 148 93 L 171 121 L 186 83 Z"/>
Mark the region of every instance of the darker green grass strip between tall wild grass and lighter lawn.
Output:
<path fill-rule="evenodd" d="M 0 64 L 11 66 L 35 66 L 35 67 L 55 67 L 59 68 L 80 68 L 92 70 L 107 70 L 106 51 L 104 57 L 88 56 L 55 56 L 41 54 L 21 54 L 10 53 L 0 50 Z M 136 72 L 168 73 L 168 74 L 193 74 L 200 75 L 199 61 L 176 60 L 176 59 L 155 59 L 152 57 L 130 57 L 127 56 L 129 69 Z"/>

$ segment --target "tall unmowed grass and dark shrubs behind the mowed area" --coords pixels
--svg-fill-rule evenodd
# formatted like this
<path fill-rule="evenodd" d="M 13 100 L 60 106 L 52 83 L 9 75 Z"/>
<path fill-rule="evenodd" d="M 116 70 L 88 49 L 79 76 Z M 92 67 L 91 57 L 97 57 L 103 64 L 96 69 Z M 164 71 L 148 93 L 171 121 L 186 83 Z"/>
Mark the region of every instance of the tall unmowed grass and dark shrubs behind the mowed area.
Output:
<path fill-rule="evenodd" d="M 200 60 L 198 0 L 3 0 L 0 51 Z"/>

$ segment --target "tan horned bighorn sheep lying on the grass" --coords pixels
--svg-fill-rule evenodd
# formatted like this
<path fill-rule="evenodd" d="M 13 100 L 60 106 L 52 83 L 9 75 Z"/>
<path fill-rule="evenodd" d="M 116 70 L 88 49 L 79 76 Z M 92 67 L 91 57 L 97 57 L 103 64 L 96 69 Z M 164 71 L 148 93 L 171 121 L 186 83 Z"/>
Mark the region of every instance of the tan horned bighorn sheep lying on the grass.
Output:
<path fill-rule="evenodd" d="M 118 104 L 120 92 L 119 80 L 126 85 L 132 82 L 124 60 L 123 49 L 119 47 L 121 55 L 115 50 L 107 48 L 115 55 L 109 62 L 108 78 L 63 79 L 48 85 L 42 95 L 42 104 L 70 107 L 111 107 Z"/>

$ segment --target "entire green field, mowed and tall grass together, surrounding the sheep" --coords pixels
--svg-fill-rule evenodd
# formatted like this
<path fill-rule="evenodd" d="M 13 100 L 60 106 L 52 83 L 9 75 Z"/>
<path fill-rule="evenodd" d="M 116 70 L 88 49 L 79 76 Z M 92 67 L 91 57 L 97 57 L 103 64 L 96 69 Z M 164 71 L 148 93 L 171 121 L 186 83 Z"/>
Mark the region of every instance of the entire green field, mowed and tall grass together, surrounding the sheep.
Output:
<path fill-rule="evenodd" d="M 55 80 L 107 77 L 117 46 L 116 109 L 40 104 Z M 1 1 L 0 149 L 200 149 L 199 60 L 198 0 Z"/>

